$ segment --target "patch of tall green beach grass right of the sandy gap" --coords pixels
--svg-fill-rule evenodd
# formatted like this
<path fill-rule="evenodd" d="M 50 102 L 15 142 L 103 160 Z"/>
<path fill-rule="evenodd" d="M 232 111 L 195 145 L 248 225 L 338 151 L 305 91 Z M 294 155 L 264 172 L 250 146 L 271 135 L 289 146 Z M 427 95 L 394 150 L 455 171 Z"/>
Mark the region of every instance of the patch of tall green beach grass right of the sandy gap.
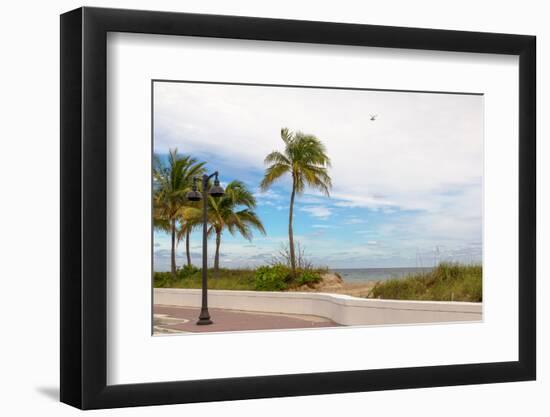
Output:
<path fill-rule="evenodd" d="M 481 302 L 482 267 L 442 263 L 425 273 L 378 282 L 369 298 Z"/>

